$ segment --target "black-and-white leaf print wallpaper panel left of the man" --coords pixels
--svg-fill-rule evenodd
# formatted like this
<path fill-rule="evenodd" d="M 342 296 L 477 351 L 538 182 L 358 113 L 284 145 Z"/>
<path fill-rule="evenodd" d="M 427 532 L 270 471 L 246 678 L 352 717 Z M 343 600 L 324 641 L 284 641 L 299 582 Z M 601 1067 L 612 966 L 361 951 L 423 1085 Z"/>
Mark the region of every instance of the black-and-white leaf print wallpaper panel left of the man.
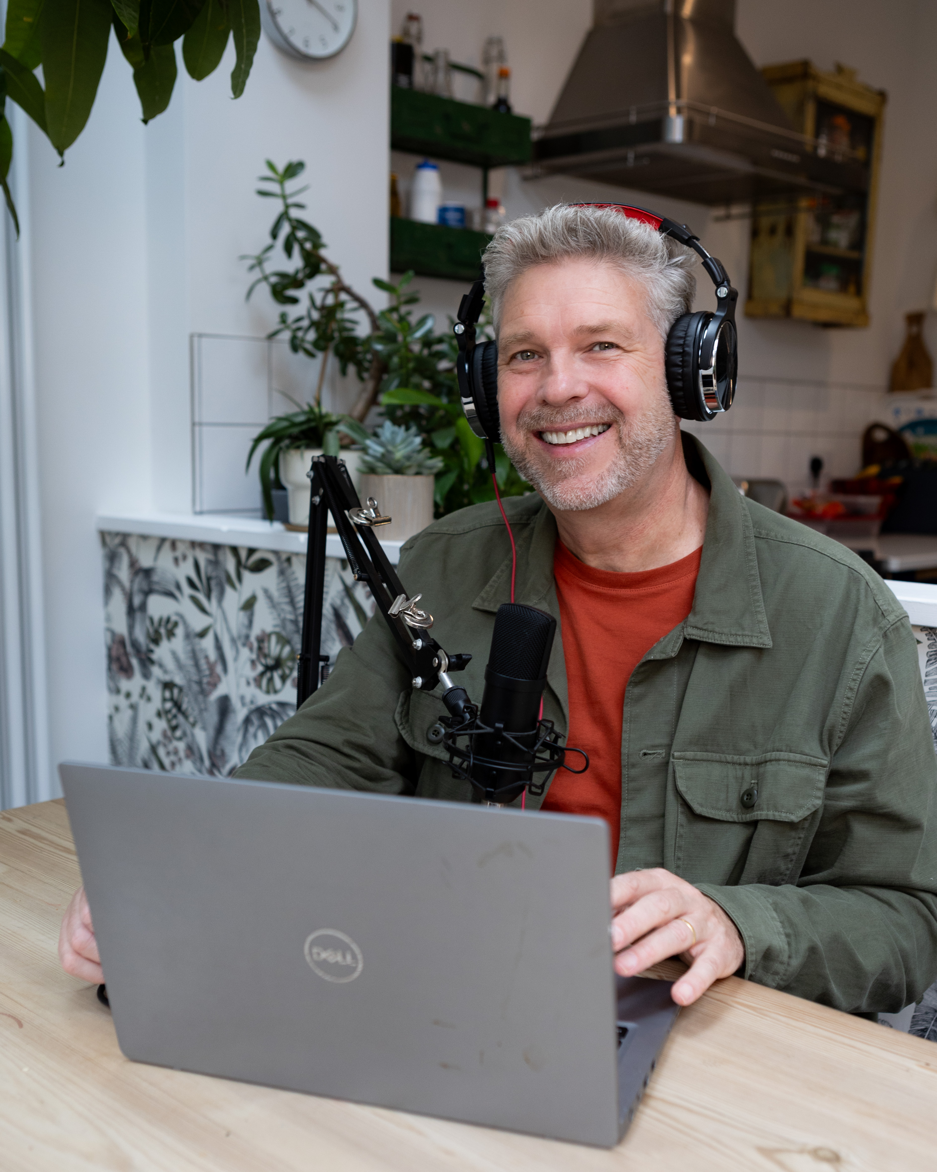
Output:
<path fill-rule="evenodd" d="M 111 763 L 230 775 L 295 711 L 306 558 L 101 538 Z M 322 654 L 334 662 L 372 611 L 329 558 Z"/>

